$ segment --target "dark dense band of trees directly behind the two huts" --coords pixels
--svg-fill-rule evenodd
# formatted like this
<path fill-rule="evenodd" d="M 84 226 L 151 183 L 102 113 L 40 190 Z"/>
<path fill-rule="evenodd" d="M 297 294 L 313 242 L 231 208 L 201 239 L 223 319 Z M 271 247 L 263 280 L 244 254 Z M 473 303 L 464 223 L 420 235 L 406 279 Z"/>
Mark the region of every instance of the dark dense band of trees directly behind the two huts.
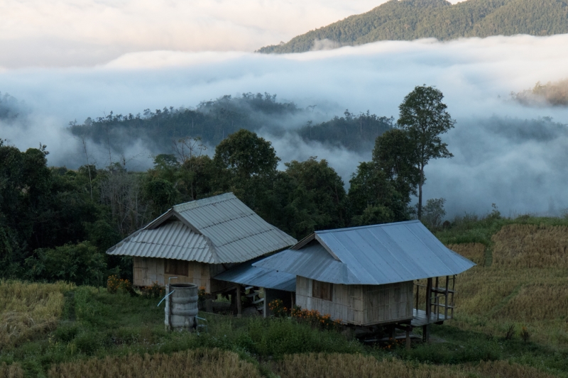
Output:
<path fill-rule="evenodd" d="M 388 135 L 386 133 L 385 135 Z M 286 163 L 249 130 L 225 138 L 214 157 L 200 140 L 176 143 L 147 172 L 116 162 L 77 170 L 48 167 L 46 146 L 20 151 L 0 143 L 0 277 L 67 279 L 102 284 L 129 277 L 127 257 L 104 252 L 174 204 L 232 191 L 266 221 L 296 238 L 313 230 L 403 221 L 412 213 L 413 183 L 398 179 L 400 160 L 361 163 L 344 189 L 325 160 Z M 64 263 L 63 263 L 64 262 Z"/>

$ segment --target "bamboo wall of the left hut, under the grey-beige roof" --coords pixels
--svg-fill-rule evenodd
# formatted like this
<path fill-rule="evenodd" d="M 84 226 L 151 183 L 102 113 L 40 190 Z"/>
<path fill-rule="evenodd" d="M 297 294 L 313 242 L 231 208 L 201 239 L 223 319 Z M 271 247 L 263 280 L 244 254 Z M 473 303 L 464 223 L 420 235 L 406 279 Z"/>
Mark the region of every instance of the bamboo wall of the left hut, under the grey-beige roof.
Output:
<path fill-rule="evenodd" d="M 149 286 L 154 282 L 160 285 L 168 283 L 169 277 L 178 277 L 171 282 L 190 282 L 198 287 L 205 287 L 207 293 L 221 291 L 230 287 L 229 282 L 212 279 L 215 275 L 224 272 L 230 265 L 206 264 L 197 261 L 184 261 L 187 264 L 187 276 L 165 273 L 166 259 L 155 257 L 133 258 L 133 284 L 135 286 Z"/>

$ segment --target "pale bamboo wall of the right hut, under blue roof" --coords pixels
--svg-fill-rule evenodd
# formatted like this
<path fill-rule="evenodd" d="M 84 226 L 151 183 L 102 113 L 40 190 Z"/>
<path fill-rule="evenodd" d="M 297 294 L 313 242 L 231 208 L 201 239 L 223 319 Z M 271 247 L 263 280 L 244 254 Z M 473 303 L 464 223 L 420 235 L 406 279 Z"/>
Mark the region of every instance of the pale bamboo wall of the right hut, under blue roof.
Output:
<path fill-rule="evenodd" d="M 296 304 L 344 323 L 372 325 L 413 317 L 413 282 L 386 285 L 333 285 L 333 300 L 312 296 L 312 279 L 296 277 Z"/>

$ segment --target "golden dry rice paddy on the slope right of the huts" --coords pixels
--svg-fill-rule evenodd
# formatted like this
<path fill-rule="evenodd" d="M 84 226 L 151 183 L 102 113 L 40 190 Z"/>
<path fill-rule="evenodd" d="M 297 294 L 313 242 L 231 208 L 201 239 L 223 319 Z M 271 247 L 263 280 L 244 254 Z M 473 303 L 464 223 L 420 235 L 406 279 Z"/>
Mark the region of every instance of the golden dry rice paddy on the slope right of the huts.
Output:
<path fill-rule="evenodd" d="M 492 241 L 493 265 L 457 278 L 452 324 L 486 333 L 526 326 L 531 340 L 567 345 L 568 227 L 503 226 Z M 481 253 L 473 243 L 449 247 L 468 258 Z"/>

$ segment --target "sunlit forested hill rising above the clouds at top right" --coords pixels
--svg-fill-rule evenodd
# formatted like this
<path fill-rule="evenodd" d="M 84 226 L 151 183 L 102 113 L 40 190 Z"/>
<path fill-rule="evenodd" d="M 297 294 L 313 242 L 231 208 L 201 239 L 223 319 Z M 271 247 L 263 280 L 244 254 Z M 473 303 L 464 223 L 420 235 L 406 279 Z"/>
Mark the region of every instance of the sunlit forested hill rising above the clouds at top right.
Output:
<path fill-rule="evenodd" d="M 322 44 L 329 48 L 378 40 L 563 33 L 568 33 L 568 4 L 563 0 L 467 0 L 454 5 L 445 0 L 391 0 L 258 52 L 317 50 L 322 40 L 329 40 Z"/>

